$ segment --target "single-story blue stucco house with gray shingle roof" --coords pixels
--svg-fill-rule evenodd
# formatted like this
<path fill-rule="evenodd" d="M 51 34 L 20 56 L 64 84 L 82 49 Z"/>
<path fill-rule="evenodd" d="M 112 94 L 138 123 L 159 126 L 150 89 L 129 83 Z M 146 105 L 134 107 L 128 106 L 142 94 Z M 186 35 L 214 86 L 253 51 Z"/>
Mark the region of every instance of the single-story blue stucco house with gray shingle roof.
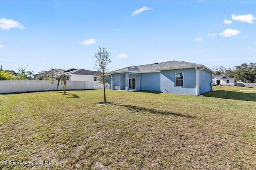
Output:
<path fill-rule="evenodd" d="M 212 70 L 184 61 L 130 66 L 111 72 L 111 90 L 199 94 L 212 90 Z"/>

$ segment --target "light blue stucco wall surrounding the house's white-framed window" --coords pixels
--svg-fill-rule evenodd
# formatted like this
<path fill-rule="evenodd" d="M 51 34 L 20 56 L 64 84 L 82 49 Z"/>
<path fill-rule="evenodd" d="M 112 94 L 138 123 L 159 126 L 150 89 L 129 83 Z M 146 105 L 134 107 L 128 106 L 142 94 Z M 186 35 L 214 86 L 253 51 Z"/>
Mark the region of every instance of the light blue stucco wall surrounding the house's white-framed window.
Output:
<path fill-rule="evenodd" d="M 175 73 L 183 73 L 183 87 L 175 87 Z M 196 95 L 196 70 L 195 68 L 166 70 L 160 74 L 160 91 L 174 94 Z M 211 80 L 211 79 L 210 79 Z"/>

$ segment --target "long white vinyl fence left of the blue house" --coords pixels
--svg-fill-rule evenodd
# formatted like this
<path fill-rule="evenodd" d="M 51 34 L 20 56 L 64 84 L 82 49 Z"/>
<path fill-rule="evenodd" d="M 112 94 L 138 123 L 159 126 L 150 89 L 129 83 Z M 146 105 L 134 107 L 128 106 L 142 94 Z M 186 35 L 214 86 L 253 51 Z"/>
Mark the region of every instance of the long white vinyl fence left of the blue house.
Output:
<path fill-rule="evenodd" d="M 54 81 L 54 90 L 62 90 L 60 85 L 57 88 L 57 82 Z M 105 84 L 105 88 L 110 88 L 110 85 Z M 88 81 L 67 81 L 66 90 L 90 90 L 102 89 L 103 84 L 100 82 Z M 52 81 L 50 80 L 0 80 L 0 93 L 16 93 L 16 92 L 36 92 L 36 91 L 51 91 Z"/>

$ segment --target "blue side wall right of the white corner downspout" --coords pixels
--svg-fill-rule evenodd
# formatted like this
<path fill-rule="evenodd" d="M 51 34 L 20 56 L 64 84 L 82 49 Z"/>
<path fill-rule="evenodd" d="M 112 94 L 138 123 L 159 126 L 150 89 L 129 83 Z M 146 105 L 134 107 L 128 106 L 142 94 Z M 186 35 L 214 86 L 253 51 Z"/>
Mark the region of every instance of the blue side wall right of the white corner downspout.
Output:
<path fill-rule="evenodd" d="M 205 93 L 205 92 L 209 92 L 210 90 L 212 90 L 210 84 L 212 82 L 212 73 L 207 72 L 205 70 L 201 70 L 199 73 L 200 76 L 200 90 L 199 93 Z"/>

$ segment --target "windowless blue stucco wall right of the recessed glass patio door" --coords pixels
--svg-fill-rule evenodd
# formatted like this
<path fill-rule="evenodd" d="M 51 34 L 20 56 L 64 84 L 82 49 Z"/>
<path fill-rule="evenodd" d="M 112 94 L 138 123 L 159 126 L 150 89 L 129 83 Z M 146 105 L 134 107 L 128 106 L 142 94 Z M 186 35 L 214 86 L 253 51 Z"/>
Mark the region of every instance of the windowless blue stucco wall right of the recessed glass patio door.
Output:
<path fill-rule="evenodd" d="M 141 74 L 141 90 L 160 91 L 160 72 Z"/>

